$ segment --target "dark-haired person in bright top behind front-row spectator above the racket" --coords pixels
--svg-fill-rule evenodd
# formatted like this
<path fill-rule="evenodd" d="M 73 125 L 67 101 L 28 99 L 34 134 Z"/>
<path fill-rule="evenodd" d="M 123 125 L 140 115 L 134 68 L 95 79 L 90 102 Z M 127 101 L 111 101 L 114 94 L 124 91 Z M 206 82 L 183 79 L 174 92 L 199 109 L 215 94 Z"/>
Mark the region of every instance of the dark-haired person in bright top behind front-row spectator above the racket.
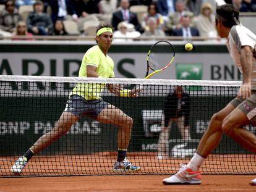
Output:
<path fill-rule="evenodd" d="M 150 17 L 154 17 L 156 19 L 157 26 L 159 29 L 161 29 L 161 30 L 164 29 L 163 16 L 159 13 L 158 6 L 155 2 L 152 2 L 148 6 L 148 13 L 143 15 L 142 27 L 144 30 L 148 30 L 147 21 Z"/>

